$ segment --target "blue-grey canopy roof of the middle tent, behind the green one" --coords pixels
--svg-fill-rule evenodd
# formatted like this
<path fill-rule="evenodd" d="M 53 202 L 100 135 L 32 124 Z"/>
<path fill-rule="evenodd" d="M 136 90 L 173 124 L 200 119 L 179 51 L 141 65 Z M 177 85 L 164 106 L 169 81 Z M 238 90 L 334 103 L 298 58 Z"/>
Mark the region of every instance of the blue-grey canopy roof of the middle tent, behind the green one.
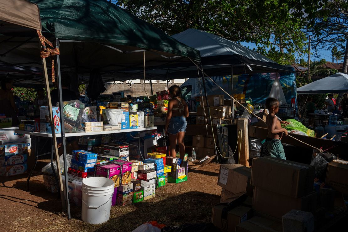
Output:
<path fill-rule="evenodd" d="M 230 75 L 231 67 L 234 74 L 294 72 L 239 43 L 202 30 L 187 29 L 172 37 L 200 51 L 203 70 L 211 77 Z M 134 76 L 141 75 L 140 70 L 127 73 L 132 73 Z M 167 80 L 195 78 L 198 77 L 198 72 L 197 67 L 191 63 L 189 66 L 148 70 L 147 75 L 153 79 Z"/>

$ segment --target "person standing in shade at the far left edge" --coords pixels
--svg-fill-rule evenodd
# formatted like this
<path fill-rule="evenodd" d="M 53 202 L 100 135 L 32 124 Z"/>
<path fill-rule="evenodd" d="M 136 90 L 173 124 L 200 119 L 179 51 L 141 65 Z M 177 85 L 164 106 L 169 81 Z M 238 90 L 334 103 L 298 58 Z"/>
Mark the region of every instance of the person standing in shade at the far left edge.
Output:
<path fill-rule="evenodd" d="M 9 78 L 4 78 L 0 82 L 0 87 L 0 113 L 5 114 L 7 118 L 12 118 L 12 126 L 18 126 L 19 120 L 17 113 L 19 111 L 11 90 L 13 88 L 13 82 Z"/>

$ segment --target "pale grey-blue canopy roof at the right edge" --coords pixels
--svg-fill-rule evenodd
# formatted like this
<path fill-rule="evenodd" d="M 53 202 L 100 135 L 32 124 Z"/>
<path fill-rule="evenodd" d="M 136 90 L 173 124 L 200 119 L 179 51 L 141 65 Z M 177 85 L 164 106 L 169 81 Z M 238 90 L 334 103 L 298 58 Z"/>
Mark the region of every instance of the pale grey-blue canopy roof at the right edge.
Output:
<path fill-rule="evenodd" d="M 298 94 L 347 93 L 348 75 L 336 73 L 297 89 Z"/>

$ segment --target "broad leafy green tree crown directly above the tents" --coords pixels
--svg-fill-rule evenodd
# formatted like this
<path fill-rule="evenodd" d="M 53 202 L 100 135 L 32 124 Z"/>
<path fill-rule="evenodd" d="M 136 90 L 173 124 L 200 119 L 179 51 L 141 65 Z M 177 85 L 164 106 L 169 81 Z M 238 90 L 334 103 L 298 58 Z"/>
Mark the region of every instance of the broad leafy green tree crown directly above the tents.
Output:
<path fill-rule="evenodd" d="M 118 5 L 169 35 L 200 29 L 233 41 L 253 42 L 259 53 L 282 64 L 306 52 L 303 7 L 320 0 L 119 0 Z"/>

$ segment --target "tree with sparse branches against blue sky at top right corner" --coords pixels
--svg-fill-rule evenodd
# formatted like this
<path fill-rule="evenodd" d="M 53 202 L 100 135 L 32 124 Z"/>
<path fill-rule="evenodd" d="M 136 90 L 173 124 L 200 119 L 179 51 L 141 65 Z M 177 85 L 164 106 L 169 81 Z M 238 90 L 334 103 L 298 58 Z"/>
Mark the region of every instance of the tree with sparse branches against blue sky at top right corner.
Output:
<path fill-rule="evenodd" d="M 324 7 L 311 14 L 307 23 L 308 32 L 315 37 L 315 53 L 318 48 L 339 47 L 344 52 L 343 72 L 348 72 L 348 2 L 327 0 Z M 338 61 L 338 60 L 337 60 Z"/>

